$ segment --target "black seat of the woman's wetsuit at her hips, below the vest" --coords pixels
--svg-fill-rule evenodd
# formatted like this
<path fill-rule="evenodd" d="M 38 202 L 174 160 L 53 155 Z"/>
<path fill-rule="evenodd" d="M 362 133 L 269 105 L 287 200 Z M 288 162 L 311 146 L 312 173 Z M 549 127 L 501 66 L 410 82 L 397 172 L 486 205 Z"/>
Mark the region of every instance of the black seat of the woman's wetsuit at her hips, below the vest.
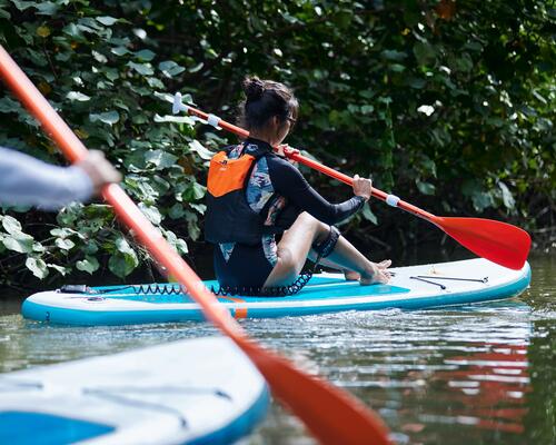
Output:
<path fill-rule="evenodd" d="M 228 261 L 224 259 L 220 246 L 215 246 L 215 273 L 220 286 L 262 287 L 272 268 L 262 244 L 248 246 L 237 243 Z"/>

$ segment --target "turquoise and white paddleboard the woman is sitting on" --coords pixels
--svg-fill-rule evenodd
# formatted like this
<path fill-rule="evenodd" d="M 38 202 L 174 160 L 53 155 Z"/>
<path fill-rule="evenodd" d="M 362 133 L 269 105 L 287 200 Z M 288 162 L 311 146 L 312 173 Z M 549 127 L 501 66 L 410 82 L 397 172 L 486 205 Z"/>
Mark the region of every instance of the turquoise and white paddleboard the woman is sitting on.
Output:
<path fill-rule="evenodd" d="M 512 298 L 527 288 L 530 268 L 512 270 L 483 258 L 390 269 L 388 285 L 360 286 L 339 274 L 318 274 L 289 297 L 220 297 L 236 318 L 264 318 L 373 310 L 424 309 Z M 217 286 L 216 281 L 206 285 Z M 34 294 L 22 314 L 68 325 L 122 325 L 203 319 L 199 306 L 176 284 L 108 286 L 92 293 Z"/>

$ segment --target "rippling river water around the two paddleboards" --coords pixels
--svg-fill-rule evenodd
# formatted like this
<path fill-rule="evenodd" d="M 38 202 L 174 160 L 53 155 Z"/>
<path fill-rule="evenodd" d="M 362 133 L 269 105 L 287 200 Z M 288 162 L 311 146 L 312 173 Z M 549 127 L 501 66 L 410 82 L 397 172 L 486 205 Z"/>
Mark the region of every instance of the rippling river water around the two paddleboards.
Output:
<path fill-rule="evenodd" d="M 522 297 L 446 310 L 242 320 L 301 368 L 355 394 L 399 444 L 556 444 L 556 256 Z M 0 372 L 216 334 L 203 323 L 57 327 L 0 298 Z M 224 369 L 222 369 L 224 370 Z M 274 403 L 245 444 L 311 444 Z"/>

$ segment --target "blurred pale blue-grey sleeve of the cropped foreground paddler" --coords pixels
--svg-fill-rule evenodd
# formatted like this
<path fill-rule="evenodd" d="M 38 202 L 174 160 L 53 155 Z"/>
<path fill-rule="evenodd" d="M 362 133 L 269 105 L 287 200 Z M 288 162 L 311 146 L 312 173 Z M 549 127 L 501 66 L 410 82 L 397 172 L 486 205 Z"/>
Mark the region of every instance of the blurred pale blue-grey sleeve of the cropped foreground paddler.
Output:
<path fill-rule="evenodd" d="M 56 209 L 91 195 L 92 182 L 79 167 L 57 167 L 0 148 L 0 202 Z"/>

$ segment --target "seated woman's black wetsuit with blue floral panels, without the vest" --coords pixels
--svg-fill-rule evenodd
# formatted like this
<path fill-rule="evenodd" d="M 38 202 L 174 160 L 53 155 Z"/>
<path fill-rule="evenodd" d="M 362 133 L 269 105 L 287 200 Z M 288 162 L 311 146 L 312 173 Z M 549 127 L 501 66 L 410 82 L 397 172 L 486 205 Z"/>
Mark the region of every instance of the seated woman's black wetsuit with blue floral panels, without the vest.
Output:
<path fill-rule="evenodd" d="M 287 230 L 301 211 L 316 219 L 335 225 L 357 212 L 365 199 L 354 196 L 341 204 L 330 204 L 322 198 L 302 177 L 300 171 L 286 159 L 272 152 L 269 144 L 249 138 L 230 150 L 230 157 L 250 152 L 257 148 L 268 154 L 257 160 L 248 184 L 246 198 L 266 224 Z M 265 235 L 260 244 L 245 245 L 228 243 L 215 246 L 215 271 L 222 286 L 260 287 L 276 264 L 276 240 Z"/>

